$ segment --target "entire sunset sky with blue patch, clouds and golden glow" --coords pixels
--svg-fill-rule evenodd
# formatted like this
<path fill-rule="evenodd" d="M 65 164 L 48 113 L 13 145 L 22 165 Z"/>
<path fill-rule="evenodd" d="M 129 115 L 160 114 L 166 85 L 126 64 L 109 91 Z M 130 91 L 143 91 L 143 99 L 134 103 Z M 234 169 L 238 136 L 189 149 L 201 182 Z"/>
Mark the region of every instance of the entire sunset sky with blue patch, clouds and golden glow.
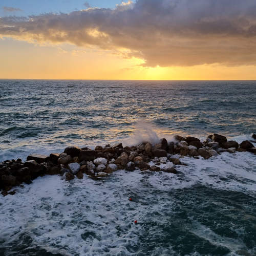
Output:
<path fill-rule="evenodd" d="M 0 78 L 256 79 L 255 0 L 1 0 Z"/>

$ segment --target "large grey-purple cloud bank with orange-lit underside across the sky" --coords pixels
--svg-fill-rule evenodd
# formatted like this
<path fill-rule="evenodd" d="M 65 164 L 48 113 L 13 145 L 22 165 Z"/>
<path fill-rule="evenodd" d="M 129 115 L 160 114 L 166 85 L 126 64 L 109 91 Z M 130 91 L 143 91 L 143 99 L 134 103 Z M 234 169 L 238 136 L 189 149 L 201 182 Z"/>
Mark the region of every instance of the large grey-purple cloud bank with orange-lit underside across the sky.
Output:
<path fill-rule="evenodd" d="M 0 36 L 127 49 L 124 57 L 144 59 L 146 67 L 256 65 L 256 2 L 137 0 L 115 9 L 3 17 Z"/>

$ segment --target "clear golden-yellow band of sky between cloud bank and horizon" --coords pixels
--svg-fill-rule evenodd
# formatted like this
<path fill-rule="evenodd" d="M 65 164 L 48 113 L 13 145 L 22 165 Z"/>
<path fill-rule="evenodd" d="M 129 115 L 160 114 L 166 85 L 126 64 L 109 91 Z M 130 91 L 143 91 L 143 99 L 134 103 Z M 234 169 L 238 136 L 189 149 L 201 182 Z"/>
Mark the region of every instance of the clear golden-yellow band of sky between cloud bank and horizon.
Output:
<path fill-rule="evenodd" d="M 0 78 L 254 80 L 255 66 L 142 67 L 142 59 L 71 45 L 39 46 L 0 40 Z"/>

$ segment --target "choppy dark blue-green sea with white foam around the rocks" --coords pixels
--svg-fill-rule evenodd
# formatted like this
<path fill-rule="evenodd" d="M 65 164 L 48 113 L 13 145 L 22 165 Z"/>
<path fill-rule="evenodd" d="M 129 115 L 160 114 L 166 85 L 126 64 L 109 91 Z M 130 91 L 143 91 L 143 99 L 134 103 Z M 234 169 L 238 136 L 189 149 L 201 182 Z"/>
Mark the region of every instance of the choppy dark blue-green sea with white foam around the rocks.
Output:
<path fill-rule="evenodd" d="M 174 134 L 241 143 L 256 81 L 0 80 L 0 120 L 0 162 Z M 0 195 L 0 255 L 256 255 L 256 155 L 182 160 L 178 175 L 44 176 Z"/>

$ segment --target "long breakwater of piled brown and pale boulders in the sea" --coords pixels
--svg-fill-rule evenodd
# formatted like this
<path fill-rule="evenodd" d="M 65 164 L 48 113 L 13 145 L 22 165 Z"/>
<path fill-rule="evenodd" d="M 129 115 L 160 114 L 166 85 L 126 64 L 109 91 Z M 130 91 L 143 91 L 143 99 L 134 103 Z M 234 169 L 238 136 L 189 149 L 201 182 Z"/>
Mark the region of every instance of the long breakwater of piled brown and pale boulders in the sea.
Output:
<path fill-rule="evenodd" d="M 4 196 L 14 195 L 13 187 L 30 184 L 32 180 L 44 175 L 59 175 L 70 181 L 75 177 L 83 179 L 84 175 L 92 179 L 105 179 L 118 169 L 177 174 L 176 165 L 183 164 L 181 160 L 184 157 L 209 159 L 222 152 L 236 151 L 256 154 L 256 148 L 250 141 L 238 144 L 219 134 L 209 135 L 203 142 L 190 136 L 184 138 L 176 135 L 174 138 L 171 142 L 163 138 L 155 145 L 143 142 L 123 147 L 122 143 L 118 143 L 113 146 L 96 146 L 94 150 L 69 146 L 60 154 L 29 155 L 25 162 L 22 159 L 6 160 L 0 163 L 0 189 Z M 252 135 L 252 138 L 256 136 Z"/>

